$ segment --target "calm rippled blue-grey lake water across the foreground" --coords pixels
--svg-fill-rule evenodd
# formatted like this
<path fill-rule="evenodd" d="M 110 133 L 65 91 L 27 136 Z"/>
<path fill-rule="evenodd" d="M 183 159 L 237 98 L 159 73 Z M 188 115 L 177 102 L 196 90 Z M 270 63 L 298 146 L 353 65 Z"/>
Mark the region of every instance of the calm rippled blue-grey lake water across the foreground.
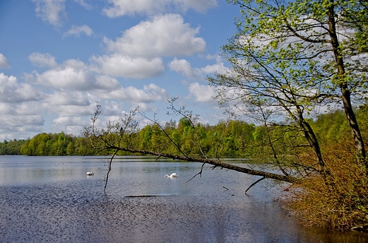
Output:
<path fill-rule="evenodd" d="M 277 201 L 282 186 L 245 195 L 257 177 L 205 166 L 188 182 L 196 162 L 121 157 L 104 193 L 107 161 L 0 156 L 0 242 L 368 242 L 301 226 Z"/>

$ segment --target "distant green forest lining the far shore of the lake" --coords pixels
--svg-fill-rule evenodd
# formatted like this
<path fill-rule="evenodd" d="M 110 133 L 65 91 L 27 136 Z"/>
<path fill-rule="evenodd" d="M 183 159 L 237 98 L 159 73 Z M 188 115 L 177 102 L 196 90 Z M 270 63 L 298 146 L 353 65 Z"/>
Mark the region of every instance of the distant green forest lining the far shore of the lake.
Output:
<path fill-rule="evenodd" d="M 362 129 L 362 135 L 368 138 L 368 105 L 357 110 L 357 119 Z M 314 121 L 310 121 L 321 145 L 331 146 L 343 143 L 350 135 L 345 114 L 338 110 L 321 114 Z M 164 126 L 164 131 L 188 155 L 199 155 L 198 146 L 193 143 L 195 131 L 199 136 L 202 150 L 207 155 L 223 155 L 232 157 L 248 157 L 267 154 L 268 137 L 265 126 L 255 126 L 244 121 L 219 121 L 217 125 L 198 124 L 192 127 L 185 118 L 179 122 L 170 121 Z M 272 128 L 274 138 L 281 134 L 282 127 Z M 178 149 L 167 142 L 165 134 L 157 125 L 147 125 L 135 134 L 134 143 L 142 150 L 165 149 L 171 153 L 178 153 Z M 280 136 L 281 137 L 281 136 Z M 166 141 L 166 142 L 163 142 Z M 289 141 L 284 141 L 288 143 Z M 283 141 L 279 141 L 282 150 Z M 108 152 L 107 155 L 109 154 Z M 28 140 L 13 140 L 0 143 L 0 155 L 35 155 L 35 156 L 63 156 L 63 155 L 94 155 L 88 150 L 84 137 L 71 136 L 61 132 L 59 134 L 38 134 Z M 120 153 L 120 155 L 124 155 Z"/>

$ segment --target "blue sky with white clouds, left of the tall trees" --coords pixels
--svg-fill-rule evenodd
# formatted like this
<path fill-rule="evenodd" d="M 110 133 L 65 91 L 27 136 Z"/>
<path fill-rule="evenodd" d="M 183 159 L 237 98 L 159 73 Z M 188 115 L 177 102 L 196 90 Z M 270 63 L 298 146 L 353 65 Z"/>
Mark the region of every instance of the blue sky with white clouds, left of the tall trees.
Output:
<path fill-rule="evenodd" d="M 0 141 L 79 135 L 139 106 L 161 122 L 171 97 L 216 124 L 205 77 L 229 65 L 220 47 L 238 6 L 225 0 L 6 0 L 0 3 Z M 145 124 L 142 120 L 141 124 Z"/>

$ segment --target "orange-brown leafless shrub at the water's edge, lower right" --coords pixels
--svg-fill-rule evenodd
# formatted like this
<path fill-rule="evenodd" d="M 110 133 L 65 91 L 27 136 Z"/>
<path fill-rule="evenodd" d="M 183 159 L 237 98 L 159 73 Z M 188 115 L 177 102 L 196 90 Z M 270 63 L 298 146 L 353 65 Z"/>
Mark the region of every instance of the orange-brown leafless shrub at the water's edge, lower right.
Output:
<path fill-rule="evenodd" d="M 287 197 L 304 225 L 339 230 L 368 225 L 367 170 L 351 151 L 349 145 L 331 148 L 324 158 L 328 175 L 314 174 Z"/>

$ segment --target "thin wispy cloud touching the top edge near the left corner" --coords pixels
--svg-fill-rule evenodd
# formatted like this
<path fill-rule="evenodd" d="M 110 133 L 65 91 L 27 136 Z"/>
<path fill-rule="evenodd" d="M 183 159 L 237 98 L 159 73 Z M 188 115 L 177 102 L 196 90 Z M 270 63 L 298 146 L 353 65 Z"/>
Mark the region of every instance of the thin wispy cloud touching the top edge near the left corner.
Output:
<path fill-rule="evenodd" d="M 62 19 L 67 18 L 65 12 L 66 0 L 32 0 L 36 5 L 36 14 L 43 21 L 54 26 L 62 24 Z"/>

